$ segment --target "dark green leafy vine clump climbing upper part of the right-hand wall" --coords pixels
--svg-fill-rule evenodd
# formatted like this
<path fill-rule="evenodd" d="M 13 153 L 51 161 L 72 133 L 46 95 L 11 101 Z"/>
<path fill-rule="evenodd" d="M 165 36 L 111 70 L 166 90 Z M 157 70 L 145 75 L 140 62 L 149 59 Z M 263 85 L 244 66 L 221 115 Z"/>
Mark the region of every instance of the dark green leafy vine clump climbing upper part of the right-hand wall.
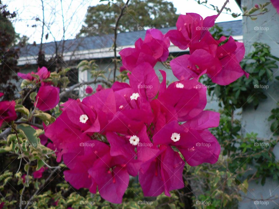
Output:
<path fill-rule="evenodd" d="M 279 59 L 271 55 L 267 44 L 254 43 L 253 47 L 254 51 L 241 62 L 242 68 L 250 74 L 248 79 L 242 76 L 227 86 L 220 86 L 206 78 L 205 84 L 211 86 L 208 93 L 218 98 L 219 106 L 223 105 L 228 115 L 236 108 L 245 108 L 249 104 L 256 109 L 259 102 L 267 98 L 268 82 L 273 77 L 272 70 L 278 68 L 276 60 Z"/>

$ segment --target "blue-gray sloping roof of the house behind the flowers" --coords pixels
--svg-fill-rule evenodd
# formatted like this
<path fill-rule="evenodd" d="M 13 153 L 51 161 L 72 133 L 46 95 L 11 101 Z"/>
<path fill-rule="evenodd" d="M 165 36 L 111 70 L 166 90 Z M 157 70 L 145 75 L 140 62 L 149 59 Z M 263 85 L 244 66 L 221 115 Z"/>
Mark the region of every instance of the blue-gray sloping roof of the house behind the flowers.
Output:
<path fill-rule="evenodd" d="M 242 22 L 241 20 L 221 22 L 217 23 L 218 26 L 223 27 L 225 35 L 242 35 Z M 171 28 L 161 28 L 162 33 L 167 33 L 167 31 L 176 29 Z M 228 30 L 231 32 L 229 33 Z M 135 41 L 139 38 L 144 39 L 145 31 L 139 30 L 135 32 L 119 33 L 117 35 L 117 46 L 128 46 L 134 45 Z M 83 51 L 90 49 L 100 49 L 112 47 L 114 35 L 101 35 L 101 36 L 90 36 L 90 37 L 79 37 L 77 39 L 65 40 L 64 53 Z M 56 42 L 58 49 L 62 51 L 62 41 Z M 45 54 L 55 54 L 56 49 L 55 42 L 45 43 L 42 49 Z M 36 46 L 33 44 L 28 44 L 26 47 L 22 48 L 20 57 L 35 56 L 39 53 L 40 44 Z"/>

